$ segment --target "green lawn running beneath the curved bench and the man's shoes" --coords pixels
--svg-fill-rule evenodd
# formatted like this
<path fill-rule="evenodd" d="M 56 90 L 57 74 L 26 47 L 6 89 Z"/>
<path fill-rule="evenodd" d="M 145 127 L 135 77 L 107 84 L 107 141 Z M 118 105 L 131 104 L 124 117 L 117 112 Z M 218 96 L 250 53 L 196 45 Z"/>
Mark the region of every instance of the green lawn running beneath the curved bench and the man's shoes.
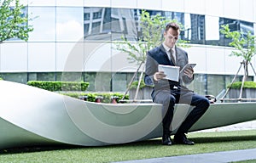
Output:
<path fill-rule="evenodd" d="M 194 146 L 161 145 L 161 139 L 105 147 L 44 146 L 0 150 L 0 162 L 113 162 L 256 148 L 256 130 L 193 132 Z"/>

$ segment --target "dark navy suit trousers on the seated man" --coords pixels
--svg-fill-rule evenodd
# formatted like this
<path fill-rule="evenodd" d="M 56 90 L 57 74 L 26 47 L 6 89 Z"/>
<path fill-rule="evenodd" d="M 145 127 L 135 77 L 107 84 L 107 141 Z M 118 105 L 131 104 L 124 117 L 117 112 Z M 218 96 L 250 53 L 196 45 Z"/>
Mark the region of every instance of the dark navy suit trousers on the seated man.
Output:
<path fill-rule="evenodd" d="M 190 111 L 189 115 L 183 121 L 181 126 L 178 127 L 176 134 L 183 134 L 189 131 L 189 128 L 195 124 L 201 118 L 209 105 L 210 102 L 204 96 L 201 96 L 192 91 L 182 91 L 182 90 L 160 90 L 155 94 L 154 103 L 162 104 L 162 114 L 163 114 L 163 135 L 170 135 L 170 126 L 173 118 L 173 111 L 175 104 L 190 104 L 195 106 L 193 110 Z"/>

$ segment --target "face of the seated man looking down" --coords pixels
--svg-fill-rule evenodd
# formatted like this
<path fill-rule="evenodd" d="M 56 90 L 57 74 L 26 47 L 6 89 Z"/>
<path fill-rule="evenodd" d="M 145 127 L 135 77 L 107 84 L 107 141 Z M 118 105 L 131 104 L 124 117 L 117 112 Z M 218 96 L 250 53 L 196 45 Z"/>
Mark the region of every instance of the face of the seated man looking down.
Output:
<path fill-rule="evenodd" d="M 173 30 L 172 28 L 170 28 L 168 31 L 164 32 L 164 37 L 165 37 L 165 45 L 168 48 L 172 48 L 174 47 L 175 43 L 177 42 L 179 36 L 179 30 Z"/>

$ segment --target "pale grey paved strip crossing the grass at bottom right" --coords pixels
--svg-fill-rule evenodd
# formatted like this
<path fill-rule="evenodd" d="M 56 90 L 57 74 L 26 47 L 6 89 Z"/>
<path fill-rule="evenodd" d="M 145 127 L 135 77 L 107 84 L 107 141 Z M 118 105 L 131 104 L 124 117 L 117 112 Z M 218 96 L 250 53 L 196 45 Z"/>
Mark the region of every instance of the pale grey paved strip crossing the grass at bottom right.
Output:
<path fill-rule="evenodd" d="M 127 160 L 115 163 L 227 163 L 240 160 L 256 160 L 256 149 L 232 150 L 198 155 L 180 155 L 146 160 Z"/>

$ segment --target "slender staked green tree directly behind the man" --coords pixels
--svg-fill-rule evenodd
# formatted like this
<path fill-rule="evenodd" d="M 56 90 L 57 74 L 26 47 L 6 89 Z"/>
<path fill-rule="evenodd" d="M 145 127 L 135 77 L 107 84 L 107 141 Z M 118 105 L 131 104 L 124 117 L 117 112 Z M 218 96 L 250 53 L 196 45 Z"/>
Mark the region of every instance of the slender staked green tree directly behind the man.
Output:
<path fill-rule="evenodd" d="M 137 38 L 136 43 L 128 41 L 125 37 L 121 37 L 122 42 L 115 43 L 116 48 L 119 51 L 129 54 L 128 60 L 130 61 L 130 63 L 137 63 L 138 65 L 137 71 L 131 78 L 131 82 L 129 83 L 129 86 L 126 89 L 125 94 L 128 92 L 131 83 L 134 81 L 138 70 L 140 70 L 141 67 L 144 65 L 147 58 L 147 52 L 150 49 L 159 46 L 160 43 L 163 41 L 163 30 L 165 29 L 166 24 L 169 22 L 177 22 L 177 20 L 168 20 L 166 19 L 166 17 L 163 17 L 159 14 L 150 16 L 150 14 L 147 11 L 143 10 L 139 20 L 139 26 L 143 31 L 142 37 Z M 181 29 L 183 29 L 183 25 L 181 25 L 180 23 L 178 24 L 180 25 Z M 179 39 L 177 44 L 179 44 L 179 46 L 188 47 L 184 44 L 186 42 L 187 41 Z M 142 78 L 143 71 L 138 82 L 137 92 L 141 84 Z M 135 95 L 135 98 L 137 98 L 137 93 Z"/>

